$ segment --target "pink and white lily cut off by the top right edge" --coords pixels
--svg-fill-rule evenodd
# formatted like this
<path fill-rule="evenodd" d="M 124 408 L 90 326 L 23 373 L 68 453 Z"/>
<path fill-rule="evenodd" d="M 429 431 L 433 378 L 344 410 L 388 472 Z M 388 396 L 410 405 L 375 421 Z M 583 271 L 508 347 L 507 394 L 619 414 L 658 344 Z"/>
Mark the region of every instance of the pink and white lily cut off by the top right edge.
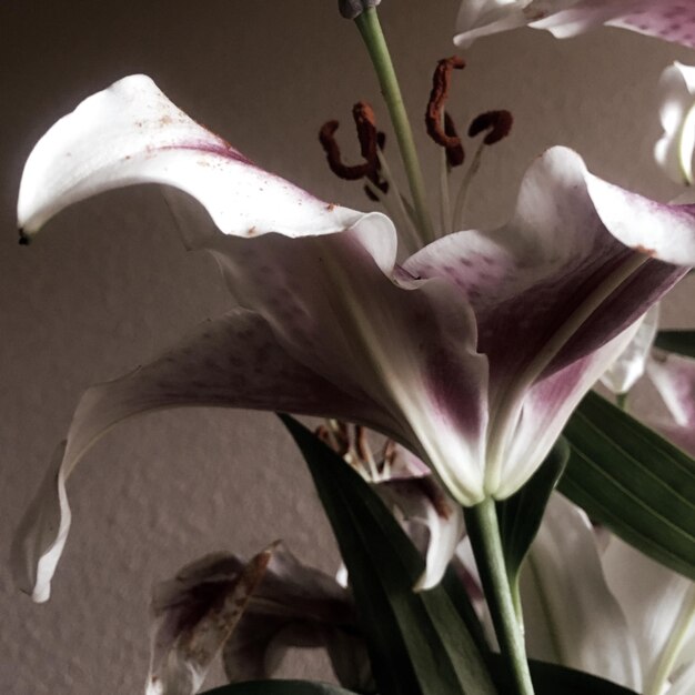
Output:
<path fill-rule="evenodd" d="M 467 48 L 520 27 L 564 39 L 604 24 L 695 48 L 695 7 L 687 0 L 464 0 L 454 43 Z"/>

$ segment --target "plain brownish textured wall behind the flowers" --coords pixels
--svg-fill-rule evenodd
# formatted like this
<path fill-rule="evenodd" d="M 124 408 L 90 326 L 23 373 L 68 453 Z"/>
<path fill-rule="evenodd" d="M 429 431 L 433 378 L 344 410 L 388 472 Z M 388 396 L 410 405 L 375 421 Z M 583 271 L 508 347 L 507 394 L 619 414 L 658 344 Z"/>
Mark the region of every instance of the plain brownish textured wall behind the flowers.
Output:
<path fill-rule="evenodd" d="M 147 72 L 258 163 L 326 200 L 369 207 L 359 185 L 326 174 L 315 138 L 330 118 L 348 123 L 360 98 L 386 123 L 359 36 L 334 6 L 0 6 L 0 693 L 141 692 L 150 586 L 205 552 L 250 554 L 283 537 L 303 558 L 336 566 L 308 474 L 274 417 L 197 410 L 123 424 L 89 454 L 70 482 L 74 525 L 50 603 L 33 605 L 7 572 L 13 528 L 81 391 L 230 305 L 212 262 L 187 253 L 169 229 L 153 189 L 80 204 L 30 249 L 18 246 L 14 201 L 33 142 L 83 97 Z M 435 60 L 453 52 L 456 6 L 382 3 L 431 180 L 436 152 L 420 114 Z M 471 225 L 502 222 L 525 165 L 555 143 L 577 149 L 615 182 L 675 195 L 651 154 L 659 132 L 654 87 L 674 58 L 687 61 L 687 51 L 615 30 L 566 42 L 528 30 L 474 47 L 451 111 L 464 123 L 507 108 L 515 129 L 483 164 Z M 349 132 L 341 131 L 348 143 Z M 669 300 L 668 324 L 695 321 L 687 294 L 681 288 Z M 286 672 L 306 668 L 324 666 L 296 658 Z"/>

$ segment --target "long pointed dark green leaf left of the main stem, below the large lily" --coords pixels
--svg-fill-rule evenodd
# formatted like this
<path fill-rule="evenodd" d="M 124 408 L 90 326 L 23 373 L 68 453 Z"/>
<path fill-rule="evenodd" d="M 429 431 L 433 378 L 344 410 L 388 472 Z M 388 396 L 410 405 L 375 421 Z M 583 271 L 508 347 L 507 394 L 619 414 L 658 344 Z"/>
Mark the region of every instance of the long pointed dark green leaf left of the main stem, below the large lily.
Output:
<path fill-rule="evenodd" d="M 415 593 L 424 562 L 376 493 L 295 420 L 338 538 L 382 695 L 493 695 L 485 662 L 443 586 Z"/>

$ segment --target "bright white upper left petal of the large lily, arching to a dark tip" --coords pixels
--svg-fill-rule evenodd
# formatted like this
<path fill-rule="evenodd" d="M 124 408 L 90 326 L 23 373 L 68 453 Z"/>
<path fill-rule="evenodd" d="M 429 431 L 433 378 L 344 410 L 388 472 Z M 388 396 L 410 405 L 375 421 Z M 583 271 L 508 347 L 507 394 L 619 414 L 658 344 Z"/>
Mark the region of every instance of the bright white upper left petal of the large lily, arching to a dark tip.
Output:
<path fill-rule="evenodd" d="M 135 183 L 185 191 L 225 234 L 324 234 L 360 218 L 259 169 L 150 78 L 132 75 L 85 99 L 37 143 L 20 185 L 19 226 L 33 234 L 63 208 Z"/>

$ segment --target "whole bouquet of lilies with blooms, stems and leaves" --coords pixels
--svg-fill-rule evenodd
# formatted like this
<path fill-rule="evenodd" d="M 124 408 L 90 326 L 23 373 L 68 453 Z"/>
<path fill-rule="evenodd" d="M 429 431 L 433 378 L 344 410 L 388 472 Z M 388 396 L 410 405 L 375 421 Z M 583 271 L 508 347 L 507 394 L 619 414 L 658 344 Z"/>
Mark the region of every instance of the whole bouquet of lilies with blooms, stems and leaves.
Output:
<path fill-rule="evenodd" d="M 331 171 L 383 212 L 264 171 L 144 75 L 88 98 L 36 145 L 21 243 L 72 203 L 157 183 L 235 308 L 83 394 L 18 533 L 18 581 L 49 598 L 68 479 L 115 424 L 181 405 L 274 411 L 344 565 L 329 576 L 279 542 L 250 560 L 193 560 L 154 591 L 148 695 L 200 692 L 219 656 L 218 695 L 692 695 L 695 333 L 659 331 L 658 302 L 695 265 L 695 204 L 624 190 L 556 147 L 528 167 L 503 226 L 465 229 L 471 182 L 513 120 L 486 111 L 464 132 L 446 102 L 465 48 L 487 34 L 612 24 L 695 48 L 695 3 L 464 0 L 462 51 L 436 66 L 425 115 L 435 182 L 379 3 L 339 6 L 374 66 L 397 157 L 364 102 L 357 163 L 336 121 L 320 141 Z M 658 89 L 655 155 L 686 190 L 695 67 L 668 67 Z M 643 376 L 668 419 L 628 413 Z M 612 397 L 591 391 L 600 380 Z M 312 430 L 293 415 L 323 420 Z M 325 648 L 340 685 L 272 679 L 293 646 Z"/>

